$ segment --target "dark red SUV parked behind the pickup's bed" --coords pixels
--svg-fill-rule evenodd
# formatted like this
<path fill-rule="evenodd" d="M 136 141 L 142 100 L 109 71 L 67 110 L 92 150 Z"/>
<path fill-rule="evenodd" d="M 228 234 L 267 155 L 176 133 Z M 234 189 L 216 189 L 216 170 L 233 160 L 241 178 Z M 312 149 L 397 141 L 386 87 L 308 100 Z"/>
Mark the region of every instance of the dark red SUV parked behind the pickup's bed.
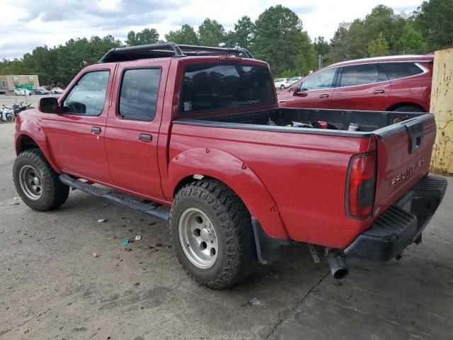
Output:
<path fill-rule="evenodd" d="M 433 55 L 340 62 L 277 94 L 287 108 L 428 112 Z"/>

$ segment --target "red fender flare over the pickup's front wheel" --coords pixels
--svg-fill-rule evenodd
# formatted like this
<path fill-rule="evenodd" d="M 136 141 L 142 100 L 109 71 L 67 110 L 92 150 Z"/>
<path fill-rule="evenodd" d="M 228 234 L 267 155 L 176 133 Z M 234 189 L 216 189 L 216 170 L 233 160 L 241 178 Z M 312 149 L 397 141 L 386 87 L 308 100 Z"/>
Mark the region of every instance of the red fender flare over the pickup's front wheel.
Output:
<path fill-rule="evenodd" d="M 52 154 L 50 154 L 50 150 L 47 147 L 47 137 L 44 132 L 42 132 L 42 128 L 38 123 L 36 123 L 33 120 L 25 120 L 21 122 L 21 130 L 16 130 L 16 143 L 15 143 L 15 148 L 16 148 L 16 155 L 20 154 L 22 152 L 21 149 L 21 142 L 24 136 L 29 137 L 31 140 L 33 140 L 36 145 L 40 148 L 41 152 L 44 154 L 45 158 L 47 159 L 47 162 L 50 163 L 52 168 L 57 171 L 57 173 L 61 173 L 61 169 L 59 169 L 59 166 L 55 164 L 54 159 L 52 158 Z"/>

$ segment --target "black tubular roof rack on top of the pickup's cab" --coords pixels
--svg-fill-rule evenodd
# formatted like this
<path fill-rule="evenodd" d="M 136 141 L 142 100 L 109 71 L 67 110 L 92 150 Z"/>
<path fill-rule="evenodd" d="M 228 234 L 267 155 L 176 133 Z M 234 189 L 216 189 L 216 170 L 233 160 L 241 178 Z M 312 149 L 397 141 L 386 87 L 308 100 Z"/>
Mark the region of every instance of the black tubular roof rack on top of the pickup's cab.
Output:
<path fill-rule="evenodd" d="M 224 48 L 224 47 L 207 47 L 193 45 L 176 45 L 174 42 L 161 42 L 159 44 L 114 47 L 109 50 L 98 61 L 103 62 L 120 62 L 126 60 L 139 60 L 158 57 L 185 57 L 187 55 L 197 55 L 197 52 L 210 52 L 227 55 L 244 55 L 246 58 L 253 59 L 248 50 L 245 48 Z M 200 53 L 201 54 L 201 53 Z"/>

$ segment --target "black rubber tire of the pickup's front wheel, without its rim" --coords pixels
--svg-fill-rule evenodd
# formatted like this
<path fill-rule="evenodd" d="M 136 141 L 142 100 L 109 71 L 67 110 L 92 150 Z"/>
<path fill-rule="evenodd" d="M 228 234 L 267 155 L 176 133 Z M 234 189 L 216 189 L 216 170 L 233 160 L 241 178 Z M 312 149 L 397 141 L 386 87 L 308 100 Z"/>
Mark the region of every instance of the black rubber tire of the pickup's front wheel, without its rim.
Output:
<path fill-rule="evenodd" d="M 42 181 L 40 198 L 32 200 L 24 193 L 21 187 L 19 174 L 23 166 L 32 166 Z M 16 157 L 13 166 L 13 181 L 16 191 L 23 202 L 30 208 L 39 211 L 47 211 L 57 208 L 66 202 L 69 196 L 69 186 L 65 186 L 59 179 L 57 172 L 45 159 L 40 149 L 30 149 Z"/>

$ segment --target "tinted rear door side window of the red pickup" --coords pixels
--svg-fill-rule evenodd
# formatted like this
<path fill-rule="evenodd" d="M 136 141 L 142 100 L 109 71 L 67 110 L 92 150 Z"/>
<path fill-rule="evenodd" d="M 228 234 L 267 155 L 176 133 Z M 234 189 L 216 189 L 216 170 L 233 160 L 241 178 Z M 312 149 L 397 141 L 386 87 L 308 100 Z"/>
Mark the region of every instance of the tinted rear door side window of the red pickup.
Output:
<path fill-rule="evenodd" d="M 120 116 L 153 120 L 160 81 L 161 69 L 127 69 L 121 83 Z"/>

